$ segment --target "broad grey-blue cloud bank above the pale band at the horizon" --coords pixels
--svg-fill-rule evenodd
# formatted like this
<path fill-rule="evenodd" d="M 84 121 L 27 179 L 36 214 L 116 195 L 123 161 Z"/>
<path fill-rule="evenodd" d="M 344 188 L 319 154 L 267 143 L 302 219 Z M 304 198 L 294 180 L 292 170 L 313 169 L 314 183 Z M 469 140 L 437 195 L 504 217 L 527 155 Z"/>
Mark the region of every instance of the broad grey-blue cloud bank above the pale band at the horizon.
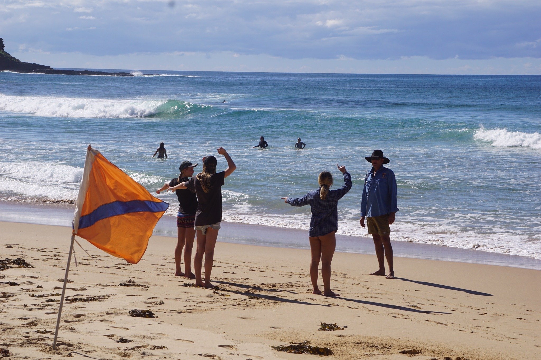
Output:
<path fill-rule="evenodd" d="M 0 32 L 6 46 L 95 56 L 541 58 L 540 14 L 534 0 L 4 0 Z M 82 20 L 99 25 L 83 35 Z"/>

